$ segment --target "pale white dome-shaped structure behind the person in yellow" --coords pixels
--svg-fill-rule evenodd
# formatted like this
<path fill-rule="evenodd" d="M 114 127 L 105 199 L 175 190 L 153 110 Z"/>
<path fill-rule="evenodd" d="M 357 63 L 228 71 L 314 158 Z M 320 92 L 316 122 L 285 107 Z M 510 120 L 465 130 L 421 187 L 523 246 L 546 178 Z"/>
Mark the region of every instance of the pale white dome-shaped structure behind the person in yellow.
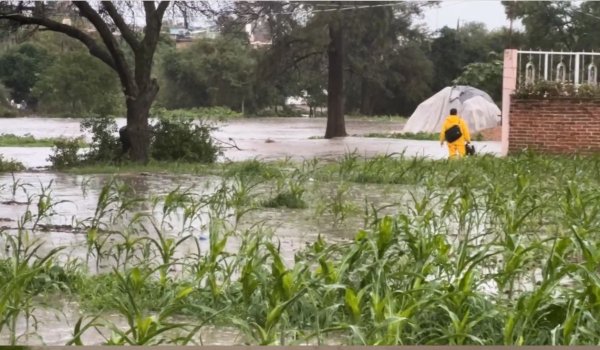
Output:
<path fill-rule="evenodd" d="M 448 86 L 422 102 L 402 132 L 440 132 L 450 109 L 456 108 L 471 133 L 500 125 L 502 112 L 484 91 L 472 86 Z"/>

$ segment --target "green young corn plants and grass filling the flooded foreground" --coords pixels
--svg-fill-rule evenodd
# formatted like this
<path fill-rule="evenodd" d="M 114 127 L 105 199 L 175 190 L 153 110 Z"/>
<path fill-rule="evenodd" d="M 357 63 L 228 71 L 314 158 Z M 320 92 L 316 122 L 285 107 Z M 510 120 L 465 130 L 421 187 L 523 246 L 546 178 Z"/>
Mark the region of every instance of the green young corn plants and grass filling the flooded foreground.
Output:
<path fill-rule="evenodd" d="M 96 330 L 105 344 L 203 343 L 209 325 L 239 344 L 597 344 L 599 167 L 347 154 L 231 163 L 162 193 L 112 178 L 73 221 L 75 255 L 45 241 L 52 184 L 15 180 L 5 196 L 28 209 L 1 235 L 0 335 L 27 343 L 61 296 L 84 315 L 73 345 Z M 273 215 L 315 238 L 290 250 Z"/>

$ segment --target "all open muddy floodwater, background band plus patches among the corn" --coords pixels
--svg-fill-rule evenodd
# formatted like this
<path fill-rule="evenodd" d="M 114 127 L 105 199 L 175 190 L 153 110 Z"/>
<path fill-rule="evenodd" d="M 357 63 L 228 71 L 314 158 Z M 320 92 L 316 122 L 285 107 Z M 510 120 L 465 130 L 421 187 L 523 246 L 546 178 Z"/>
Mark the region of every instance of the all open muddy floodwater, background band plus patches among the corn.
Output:
<path fill-rule="evenodd" d="M 0 132 L 5 134 L 26 135 L 36 138 L 48 137 L 78 137 L 83 135 L 79 128 L 80 120 L 77 119 L 48 119 L 48 118 L 12 118 L 0 119 Z M 125 120 L 119 119 L 119 125 L 124 125 Z M 258 158 L 262 160 L 275 160 L 292 158 L 295 160 L 312 158 L 335 158 L 348 152 L 356 151 L 360 155 L 372 156 L 386 153 L 402 153 L 407 156 L 425 156 L 443 158 L 446 148 L 440 147 L 436 141 L 415 141 L 384 138 L 366 138 L 349 136 L 325 140 L 320 137 L 325 132 L 326 120 L 324 118 L 259 118 L 239 119 L 219 123 L 219 130 L 214 136 L 222 141 L 235 142 L 238 149 L 229 148 L 225 151 L 224 160 L 247 160 Z M 350 135 L 363 135 L 367 133 L 400 132 L 402 123 L 389 120 L 347 120 L 347 132 Z M 89 135 L 84 135 L 89 139 Z M 499 154 L 499 142 L 475 142 L 477 149 L 482 153 Z M 50 154 L 48 147 L 2 147 L 0 154 L 5 158 L 16 159 L 28 168 L 44 168 L 49 165 L 47 161 Z M 182 186 L 190 187 L 194 193 L 211 194 L 216 191 L 222 179 L 209 176 L 168 176 L 168 175 L 130 175 L 120 176 L 120 181 L 130 185 L 138 194 L 165 195 Z M 94 215 L 99 193 L 102 186 L 109 181 L 109 175 L 71 175 L 55 173 L 45 169 L 31 169 L 22 173 L 0 175 L 0 227 L 4 232 L 15 232 L 18 219 L 28 209 L 36 211 L 37 196 L 42 193 L 49 194 L 54 203 L 58 203 L 53 210 L 53 215 L 40 222 L 40 227 L 35 236 L 42 239 L 45 245 L 43 251 L 49 251 L 57 246 L 65 246 L 64 258 L 85 259 L 86 235 L 78 231 L 78 223 Z M 332 188 L 334 186 L 331 186 Z M 322 192 L 322 191 L 321 191 Z M 319 193 L 319 190 L 313 190 Z M 356 185 L 348 192 L 348 200 L 354 202 L 358 211 L 364 205 L 365 199 L 377 203 L 379 206 L 398 202 L 406 193 L 400 186 L 386 185 Z M 350 218 L 341 225 L 332 225 L 327 217 L 315 214 L 314 202 L 324 201 L 322 198 L 309 198 L 309 208 L 304 210 L 292 209 L 261 209 L 247 215 L 248 224 L 261 221 L 267 230 L 281 243 L 281 252 L 284 258 L 293 261 L 294 252 L 306 243 L 312 242 L 319 234 L 325 235 L 328 240 L 345 239 L 352 237 L 361 226 L 362 214 Z M 33 199 L 31 208 L 28 207 L 28 197 Z M 158 206 L 160 208 L 160 205 Z M 149 205 L 139 208 L 140 211 L 160 219 L 160 213 Z M 176 213 L 168 219 L 173 227 L 181 226 L 181 213 Z M 197 231 L 193 232 L 198 237 L 207 237 L 204 228 L 208 223 L 207 215 L 201 215 Z M 117 223 L 118 226 L 119 223 Z M 125 223 L 123 223 L 125 224 Z M 117 227 L 118 228 L 118 227 Z M 174 234 L 174 233 L 173 233 Z M 206 249 L 208 241 L 203 239 L 201 249 Z M 231 240 L 227 249 L 235 251 L 238 242 Z M 0 242 L 3 247 L 5 242 Z M 4 249 L 0 250 L 0 254 Z M 181 252 L 185 254 L 185 252 Z M 93 272 L 92 266 L 90 266 Z M 38 308 L 37 318 L 40 321 L 37 336 L 27 338 L 27 344 L 64 345 L 69 338 L 70 330 L 77 318 L 81 315 L 77 305 L 65 301 L 64 307 Z M 107 316 L 110 318 L 110 316 Z M 115 320 L 115 323 L 118 323 Z M 7 339 L 5 334 L 0 334 L 0 344 Z M 90 336 L 87 344 L 102 342 L 99 336 Z M 204 334 L 205 344 L 235 344 L 240 342 L 235 330 L 213 329 Z"/>

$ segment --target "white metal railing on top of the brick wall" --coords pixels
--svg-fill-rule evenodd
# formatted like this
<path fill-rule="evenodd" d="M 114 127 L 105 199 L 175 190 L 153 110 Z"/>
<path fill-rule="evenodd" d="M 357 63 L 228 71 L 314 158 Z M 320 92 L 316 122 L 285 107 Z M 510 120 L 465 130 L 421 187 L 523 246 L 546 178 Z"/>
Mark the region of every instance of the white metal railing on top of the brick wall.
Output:
<path fill-rule="evenodd" d="M 518 51 L 517 84 L 559 81 L 598 84 L 599 52 Z"/>

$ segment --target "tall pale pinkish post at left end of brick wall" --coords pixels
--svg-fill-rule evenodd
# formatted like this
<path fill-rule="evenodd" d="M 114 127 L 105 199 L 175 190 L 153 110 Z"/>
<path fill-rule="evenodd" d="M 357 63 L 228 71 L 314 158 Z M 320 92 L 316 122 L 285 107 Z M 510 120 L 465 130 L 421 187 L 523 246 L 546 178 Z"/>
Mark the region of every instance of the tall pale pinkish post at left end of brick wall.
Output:
<path fill-rule="evenodd" d="M 501 154 L 508 154 L 508 135 L 510 131 L 510 95 L 517 88 L 517 50 L 504 50 L 504 69 L 502 73 L 502 146 Z"/>

